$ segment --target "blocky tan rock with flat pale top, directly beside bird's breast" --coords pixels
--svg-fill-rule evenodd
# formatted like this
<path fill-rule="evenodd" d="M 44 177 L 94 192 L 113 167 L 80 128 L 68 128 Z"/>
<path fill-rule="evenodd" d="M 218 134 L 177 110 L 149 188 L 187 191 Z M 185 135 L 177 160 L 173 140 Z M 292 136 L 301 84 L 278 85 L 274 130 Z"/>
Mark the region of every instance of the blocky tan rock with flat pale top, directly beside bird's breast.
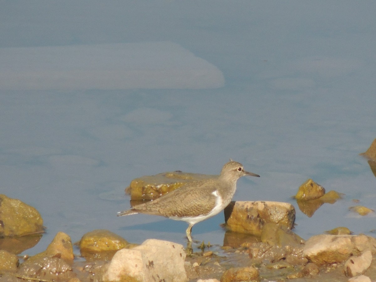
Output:
<path fill-rule="evenodd" d="M 292 229 L 295 208 L 282 202 L 231 202 L 224 209 L 224 220 L 226 227 L 233 232 L 261 236 L 266 223 L 276 223 Z"/>

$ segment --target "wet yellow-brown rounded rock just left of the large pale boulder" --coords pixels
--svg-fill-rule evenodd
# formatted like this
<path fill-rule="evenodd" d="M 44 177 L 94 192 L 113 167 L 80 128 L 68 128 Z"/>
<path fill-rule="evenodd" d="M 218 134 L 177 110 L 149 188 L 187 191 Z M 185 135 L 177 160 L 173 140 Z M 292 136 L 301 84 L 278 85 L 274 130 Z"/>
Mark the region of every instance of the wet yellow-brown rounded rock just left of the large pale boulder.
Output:
<path fill-rule="evenodd" d="M 79 242 L 81 256 L 86 261 L 109 260 L 118 250 L 129 246 L 124 238 L 105 229 L 90 231 Z"/>

